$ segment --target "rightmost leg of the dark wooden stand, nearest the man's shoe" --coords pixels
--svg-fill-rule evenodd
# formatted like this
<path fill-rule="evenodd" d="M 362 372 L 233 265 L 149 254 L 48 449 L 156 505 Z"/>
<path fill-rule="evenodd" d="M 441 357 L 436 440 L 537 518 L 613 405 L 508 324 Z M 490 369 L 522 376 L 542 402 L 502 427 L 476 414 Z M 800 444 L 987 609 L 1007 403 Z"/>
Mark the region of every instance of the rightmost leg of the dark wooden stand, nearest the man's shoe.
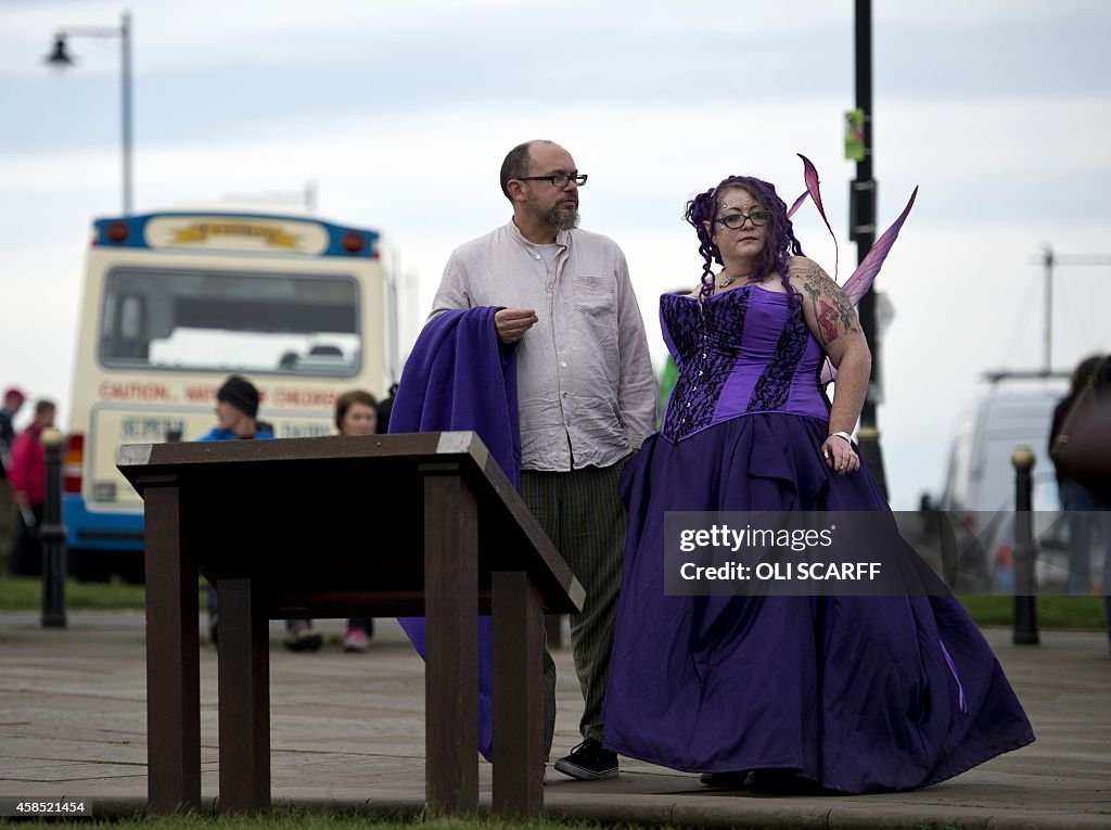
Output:
<path fill-rule="evenodd" d="M 493 601 L 493 812 L 537 817 L 544 807 L 543 607 L 519 571 L 496 571 Z"/>

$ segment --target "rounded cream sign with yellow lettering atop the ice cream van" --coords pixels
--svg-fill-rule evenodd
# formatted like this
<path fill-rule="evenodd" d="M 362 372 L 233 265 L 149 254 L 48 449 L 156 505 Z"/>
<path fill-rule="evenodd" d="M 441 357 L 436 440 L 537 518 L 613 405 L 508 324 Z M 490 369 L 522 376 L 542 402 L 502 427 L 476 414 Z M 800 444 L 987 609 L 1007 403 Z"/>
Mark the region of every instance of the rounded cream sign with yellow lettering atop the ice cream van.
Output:
<path fill-rule="evenodd" d="M 146 229 L 152 248 L 203 248 L 218 251 L 321 253 L 328 233 L 318 224 L 258 221 L 230 217 L 159 217 Z"/>

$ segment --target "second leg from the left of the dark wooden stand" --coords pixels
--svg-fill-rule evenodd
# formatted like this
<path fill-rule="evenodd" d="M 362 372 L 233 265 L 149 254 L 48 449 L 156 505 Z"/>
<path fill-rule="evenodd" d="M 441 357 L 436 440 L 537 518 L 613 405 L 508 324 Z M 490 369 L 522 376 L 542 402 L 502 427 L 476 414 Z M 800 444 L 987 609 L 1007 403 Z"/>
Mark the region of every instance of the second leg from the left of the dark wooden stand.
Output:
<path fill-rule="evenodd" d="M 220 811 L 270 809 L 269 624 L 250 579 L 221 579 Z"/>

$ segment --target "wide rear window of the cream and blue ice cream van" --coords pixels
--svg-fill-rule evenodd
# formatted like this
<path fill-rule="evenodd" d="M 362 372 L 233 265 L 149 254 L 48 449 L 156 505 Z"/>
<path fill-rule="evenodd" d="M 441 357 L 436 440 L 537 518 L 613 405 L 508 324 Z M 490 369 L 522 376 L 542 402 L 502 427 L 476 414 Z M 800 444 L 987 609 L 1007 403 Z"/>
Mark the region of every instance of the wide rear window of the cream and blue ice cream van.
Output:
<path fill-rule="evenodd" d="M 351 377 L 359 369 L 353 277 L 161 268 L 109 272 L 107 367 Z"/>

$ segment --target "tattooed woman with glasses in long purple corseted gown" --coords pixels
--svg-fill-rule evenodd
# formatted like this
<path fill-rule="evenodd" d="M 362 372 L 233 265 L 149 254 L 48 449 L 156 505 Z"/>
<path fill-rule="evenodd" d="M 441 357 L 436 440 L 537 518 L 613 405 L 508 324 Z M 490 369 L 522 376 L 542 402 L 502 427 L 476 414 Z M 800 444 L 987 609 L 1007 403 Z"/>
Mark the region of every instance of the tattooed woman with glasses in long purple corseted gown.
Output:
<path fill-rule="evenodd" d="M 687 220 L 705 264 L 700 289 L 661 299 L 680 378 L 622 481 L 607 748 L 707 783 L 875 792 L 1029 743 L 999 662 L 948 592 L 664 594 L 668 511 L 889 513 L 850 437 L 868 343 L 850 300 L 802 256 L 774 188 L 725 179 Z M 832 403 L 825 358 L 838 370 Z"/>

